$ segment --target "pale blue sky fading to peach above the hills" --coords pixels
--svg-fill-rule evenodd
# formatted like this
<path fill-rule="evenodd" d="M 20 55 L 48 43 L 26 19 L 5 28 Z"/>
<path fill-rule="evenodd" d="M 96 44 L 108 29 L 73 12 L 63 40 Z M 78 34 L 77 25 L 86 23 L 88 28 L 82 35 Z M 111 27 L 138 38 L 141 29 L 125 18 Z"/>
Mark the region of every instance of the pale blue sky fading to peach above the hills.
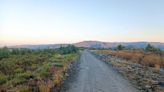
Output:
<path fill-rule="evenodd" d="M 0 45 L 164 42 L 164 0 L 0 0 Z"/>

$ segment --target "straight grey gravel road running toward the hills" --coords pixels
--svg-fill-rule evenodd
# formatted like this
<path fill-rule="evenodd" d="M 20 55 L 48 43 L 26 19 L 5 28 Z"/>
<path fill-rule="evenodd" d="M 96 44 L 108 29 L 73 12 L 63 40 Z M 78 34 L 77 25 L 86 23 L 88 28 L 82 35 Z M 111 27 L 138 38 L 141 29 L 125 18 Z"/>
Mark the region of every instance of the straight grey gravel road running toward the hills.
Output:
<path fill-rule="evenodd" d="M 79 73 L 69 83 L 66 92 L 138 92 L 112 67 L 96 59 L 87 51 L 82 52 Z"/>

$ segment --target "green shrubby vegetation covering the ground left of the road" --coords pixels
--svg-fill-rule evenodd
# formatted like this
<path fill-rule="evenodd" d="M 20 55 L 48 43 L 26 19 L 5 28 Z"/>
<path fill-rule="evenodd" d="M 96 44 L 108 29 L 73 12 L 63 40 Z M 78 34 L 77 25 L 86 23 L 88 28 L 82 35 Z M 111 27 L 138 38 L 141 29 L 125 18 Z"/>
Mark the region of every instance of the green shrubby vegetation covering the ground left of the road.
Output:
<path fill-rule="evenodd" d="M 0 92 L 49 92 L 58 88 L 78 59 L 74 46 L 58 49 L 0 49 Z"/>

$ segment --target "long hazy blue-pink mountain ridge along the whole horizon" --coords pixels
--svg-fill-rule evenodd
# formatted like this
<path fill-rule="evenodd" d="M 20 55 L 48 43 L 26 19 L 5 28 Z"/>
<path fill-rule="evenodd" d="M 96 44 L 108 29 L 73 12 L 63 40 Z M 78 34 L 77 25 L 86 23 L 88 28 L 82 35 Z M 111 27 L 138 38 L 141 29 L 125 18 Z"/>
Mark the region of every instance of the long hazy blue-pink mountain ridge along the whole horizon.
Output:
<path fill-rule="evenodd" d="M 127 48 L 145 48 L 151 44 L 161 50 L 164 50 L 164 43 L 162 42 L 102 42 L 102 41 L 81 41 L 72 44 L 39 44 L 39 45 L 15 45 L 8 46 L 9 48 L 30 48 L 30 49 L 44 49 L 44 48 L 59 48 L 61 46 L 74 45 L 76 47 L 84 48 L 115 48 L 118 45 L 123 45 Z"/>

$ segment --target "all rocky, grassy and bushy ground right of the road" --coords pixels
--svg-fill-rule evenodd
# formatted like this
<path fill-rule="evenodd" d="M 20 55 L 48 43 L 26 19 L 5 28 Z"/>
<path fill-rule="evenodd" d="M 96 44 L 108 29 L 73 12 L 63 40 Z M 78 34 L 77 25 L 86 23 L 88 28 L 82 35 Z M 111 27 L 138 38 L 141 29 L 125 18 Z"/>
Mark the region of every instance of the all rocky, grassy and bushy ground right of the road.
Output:
<path fill-rule="evenodd" d="M 94 50 L 95 55 L 126 76 L 141 92 L 164 92 L 164 52 L 148 44 L 145 49 Z"/>

